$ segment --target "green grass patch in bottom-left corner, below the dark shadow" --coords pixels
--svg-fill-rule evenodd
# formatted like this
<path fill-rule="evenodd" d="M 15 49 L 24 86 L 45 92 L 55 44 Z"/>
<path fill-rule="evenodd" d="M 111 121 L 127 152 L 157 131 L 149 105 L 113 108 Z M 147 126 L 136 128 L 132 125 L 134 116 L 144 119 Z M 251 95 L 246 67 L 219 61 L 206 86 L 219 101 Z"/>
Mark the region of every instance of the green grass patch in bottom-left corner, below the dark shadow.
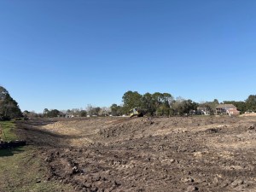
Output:
<path fill-rule="evenodd" d="M 73 191 L 70 185 L 48 181 L 44 160 L 35 154 L 32 146 L 0 150 L 0 191 Z"/>

